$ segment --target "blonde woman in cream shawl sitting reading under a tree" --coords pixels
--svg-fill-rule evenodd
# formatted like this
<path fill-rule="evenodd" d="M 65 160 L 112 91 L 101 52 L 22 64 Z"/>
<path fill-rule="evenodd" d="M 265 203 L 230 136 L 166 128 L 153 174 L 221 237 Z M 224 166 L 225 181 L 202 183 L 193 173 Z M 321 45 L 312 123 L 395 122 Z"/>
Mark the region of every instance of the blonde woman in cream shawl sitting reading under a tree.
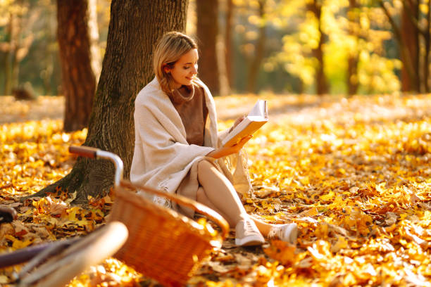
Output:
<path fill-rule="evenodd" d="M 218 133 L 213 97 L 196 77 L 199 53 L 193 39 L 168 32 L 154 51 L 156 77 L 135 101 L 135 152 L 130 179 L 153 189 L 178 193 L 207 205 L 235 227 L 237 245 L 261 245 L 263 236 L 296 241 L 296 224 L 273 225 L 247 215 L 237 189 L 251 188 L 242 146 L 220 147 L 229 131 Z M 237 125 L 242 118 L 239 118 Z M 225 161 L 235 165 L 231 172 Z M 231 166 L 231 167 L 232 167 Z M 189 208 L 154 201 L 193 217 Z"/>

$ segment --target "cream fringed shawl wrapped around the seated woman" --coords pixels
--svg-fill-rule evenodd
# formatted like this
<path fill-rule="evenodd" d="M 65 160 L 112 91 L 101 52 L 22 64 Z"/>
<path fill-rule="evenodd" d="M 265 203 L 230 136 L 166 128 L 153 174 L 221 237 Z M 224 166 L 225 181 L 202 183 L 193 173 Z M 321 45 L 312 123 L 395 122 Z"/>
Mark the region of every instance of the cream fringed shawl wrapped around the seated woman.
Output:
<path fill-rule="evenodd" d="M 156 78 L 139 91 L 135 100 L 135 151 L 130 170 L 132 182 L 175 193 L 193 163 L 205 158 L 227 134 L 218 133 L 215 104 L 208 87 L 199 79 L 194 83 L 204 88 L 208 108 L 204 146 L 187 143 L 181 117 Z M 232 155 L 216 162 L 237 192 L 251 191 L 244 156 Z M 161 198 L 155 197 L 153 200 L 170 206 Z"/>

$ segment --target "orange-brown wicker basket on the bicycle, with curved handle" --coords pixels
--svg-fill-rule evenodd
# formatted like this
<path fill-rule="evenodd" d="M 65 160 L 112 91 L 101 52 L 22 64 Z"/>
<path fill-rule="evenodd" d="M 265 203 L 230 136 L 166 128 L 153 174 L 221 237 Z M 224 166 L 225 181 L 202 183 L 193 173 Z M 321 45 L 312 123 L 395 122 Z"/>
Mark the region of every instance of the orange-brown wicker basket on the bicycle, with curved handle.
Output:
<path fill-rule="evenodd" d="M 194 220 L 151 203 L 133 192 L 136 190 L 164 196 L 206 215 L 221 227 L 221 235 L 214 238 Z M 221 247 L 229 232 L 229 225 L 217 212 L 183 196 L 130 181 L 121 181 L 115 196 L 109 221 L 123 222 L 129 231 L 115 257 L 165 286 L 184 285 L 211 250 Z"/>

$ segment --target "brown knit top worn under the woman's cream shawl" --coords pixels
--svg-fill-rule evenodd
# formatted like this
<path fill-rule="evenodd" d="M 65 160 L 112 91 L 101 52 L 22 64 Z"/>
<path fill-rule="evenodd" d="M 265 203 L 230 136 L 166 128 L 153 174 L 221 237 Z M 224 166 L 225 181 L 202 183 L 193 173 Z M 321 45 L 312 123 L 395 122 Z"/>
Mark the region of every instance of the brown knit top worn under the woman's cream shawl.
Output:
<path fill-rule="evenodd" d="M 204 89 L 194 84 L 182 86 L 168 95 L 175 110 L 180 114 L 185 127 L 187 142 L 204 146 L 204 132 L 208 108 L 206 108 Z"/>

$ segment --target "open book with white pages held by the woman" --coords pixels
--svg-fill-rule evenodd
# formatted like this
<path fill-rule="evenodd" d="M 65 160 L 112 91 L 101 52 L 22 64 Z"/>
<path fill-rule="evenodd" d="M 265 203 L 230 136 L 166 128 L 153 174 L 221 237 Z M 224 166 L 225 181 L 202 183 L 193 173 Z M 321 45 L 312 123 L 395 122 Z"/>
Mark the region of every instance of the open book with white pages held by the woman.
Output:
<path fill-rule="evenodd" d="M 233 146 L 238 144 L 241 139 L 251 134 L 254 134 L 266 122 L 268 122 L 268 108 L 266 101 L 258 100 L 254 107 L 250 110 L 242 122 L 232 129 L 222 141 L 222 146 Z"/>

